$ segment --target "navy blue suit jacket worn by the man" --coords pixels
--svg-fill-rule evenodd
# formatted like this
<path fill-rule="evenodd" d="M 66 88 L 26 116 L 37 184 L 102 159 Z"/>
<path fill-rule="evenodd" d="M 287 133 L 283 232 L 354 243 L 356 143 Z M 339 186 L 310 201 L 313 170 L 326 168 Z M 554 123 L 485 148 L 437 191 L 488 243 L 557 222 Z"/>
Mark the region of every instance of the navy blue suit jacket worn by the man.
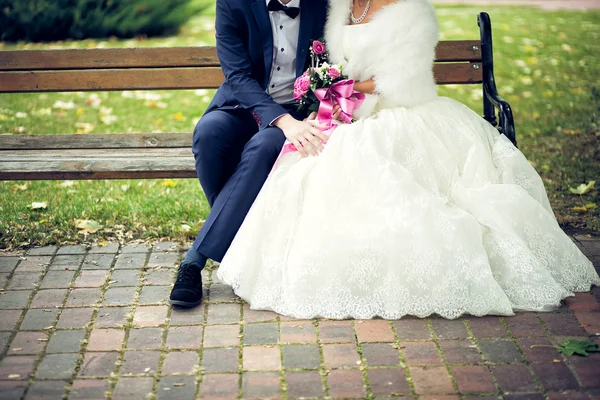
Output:
<path fill-rule="evenodd" d="M 296 76 L 308 66 L 312 40 L 323 36 L 326 0 L 301 0 Z M 265 0 L 217 0 L 217 55 L 225 82 L 206 112 L 246 109 L 261 129 L 287 111 L 265 90 L 273 63 L 273 33 Z"/>

